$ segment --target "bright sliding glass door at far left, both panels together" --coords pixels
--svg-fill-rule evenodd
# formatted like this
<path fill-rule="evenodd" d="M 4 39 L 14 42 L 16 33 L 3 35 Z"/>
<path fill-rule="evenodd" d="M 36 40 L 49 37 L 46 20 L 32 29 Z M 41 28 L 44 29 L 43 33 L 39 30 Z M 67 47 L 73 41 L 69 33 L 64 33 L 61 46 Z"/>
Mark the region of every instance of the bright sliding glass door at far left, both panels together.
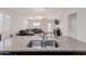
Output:
<path fill-rule="evenodd" d="M 0 50 L 8 50 L 11 47 L 11 16 L 0 14 Z"/>

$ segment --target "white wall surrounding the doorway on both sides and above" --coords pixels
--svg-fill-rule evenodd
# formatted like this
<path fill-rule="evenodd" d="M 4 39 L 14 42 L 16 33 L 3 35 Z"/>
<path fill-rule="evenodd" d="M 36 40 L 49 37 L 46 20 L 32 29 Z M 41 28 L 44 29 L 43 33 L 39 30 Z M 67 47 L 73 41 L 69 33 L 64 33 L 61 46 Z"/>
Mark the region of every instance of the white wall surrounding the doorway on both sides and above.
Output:
<path fill-rule="evenodd" d="M 67 9 L 66 12 L 64 12 L 61 16 L 61 20 L 63 22 L 63 30 L 64 30 L 64 35 L 67 36 L 67 16 L 70 14 L 73 13 L 77 13 L 77 23 L 76 23 L 76 27 L 77 27 L 77 37 L 76 39 L 86 42 L 86 9 L 82 8 L 82 9 Z M 71 36 L 70 36 L 71 37 Z"/>

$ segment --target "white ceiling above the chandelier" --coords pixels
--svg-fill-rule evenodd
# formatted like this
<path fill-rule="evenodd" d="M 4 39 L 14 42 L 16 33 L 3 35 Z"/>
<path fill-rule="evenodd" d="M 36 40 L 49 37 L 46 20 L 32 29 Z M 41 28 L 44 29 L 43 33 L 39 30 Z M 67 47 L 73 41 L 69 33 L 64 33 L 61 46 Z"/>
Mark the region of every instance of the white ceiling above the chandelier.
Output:
<path fill-rule="evenodd" d="M 17 13 L 19 15 L 28 16 L 60 16 L 65 9 L 63 8 L 9 8 L 9 10 Z"/>

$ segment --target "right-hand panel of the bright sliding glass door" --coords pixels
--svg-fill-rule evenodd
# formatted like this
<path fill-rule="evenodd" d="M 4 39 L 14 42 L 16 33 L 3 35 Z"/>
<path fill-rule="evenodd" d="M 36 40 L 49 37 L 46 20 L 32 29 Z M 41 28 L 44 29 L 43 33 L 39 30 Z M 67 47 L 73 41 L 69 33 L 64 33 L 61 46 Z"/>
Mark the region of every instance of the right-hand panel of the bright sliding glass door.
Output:
<path fill-rule="evenodd" d="M 10 49 L 11 47 L 11 16 L 4 15 L 3 17 L 3 40 L 4 49 Z"/>

